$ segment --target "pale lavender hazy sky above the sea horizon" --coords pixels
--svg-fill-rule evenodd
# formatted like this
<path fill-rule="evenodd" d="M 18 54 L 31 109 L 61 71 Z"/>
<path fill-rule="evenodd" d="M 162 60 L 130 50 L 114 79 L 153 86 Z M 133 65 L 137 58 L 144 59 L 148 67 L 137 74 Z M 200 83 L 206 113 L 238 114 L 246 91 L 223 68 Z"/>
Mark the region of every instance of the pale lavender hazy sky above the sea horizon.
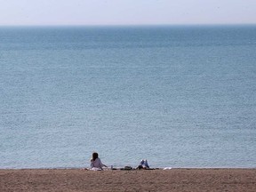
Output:
<path fill-rule="evenodd" d="M 0 25 L 256 23 L 256 0 L 0 0 Z"/>

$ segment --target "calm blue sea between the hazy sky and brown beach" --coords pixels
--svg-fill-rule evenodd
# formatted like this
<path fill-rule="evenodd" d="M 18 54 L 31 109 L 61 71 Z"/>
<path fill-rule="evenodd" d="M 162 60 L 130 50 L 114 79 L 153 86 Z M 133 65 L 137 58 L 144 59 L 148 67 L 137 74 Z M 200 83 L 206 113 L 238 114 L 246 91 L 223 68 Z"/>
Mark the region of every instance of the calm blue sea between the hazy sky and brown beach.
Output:
<path fill-rule="evenodd" d="M 0 27 L 0 168 L 256 167 L 256 26 Z"/>

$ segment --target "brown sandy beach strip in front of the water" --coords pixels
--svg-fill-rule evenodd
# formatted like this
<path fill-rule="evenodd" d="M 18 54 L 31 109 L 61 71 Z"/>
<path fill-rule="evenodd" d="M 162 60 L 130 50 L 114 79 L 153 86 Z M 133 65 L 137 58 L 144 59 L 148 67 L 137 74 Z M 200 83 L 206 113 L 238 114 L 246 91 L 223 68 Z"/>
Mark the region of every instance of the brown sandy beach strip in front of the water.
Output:
<path fill-rule="evenodd" d="M 0 191 L 256 191 L 256 169 L 0 170 Z"/>

